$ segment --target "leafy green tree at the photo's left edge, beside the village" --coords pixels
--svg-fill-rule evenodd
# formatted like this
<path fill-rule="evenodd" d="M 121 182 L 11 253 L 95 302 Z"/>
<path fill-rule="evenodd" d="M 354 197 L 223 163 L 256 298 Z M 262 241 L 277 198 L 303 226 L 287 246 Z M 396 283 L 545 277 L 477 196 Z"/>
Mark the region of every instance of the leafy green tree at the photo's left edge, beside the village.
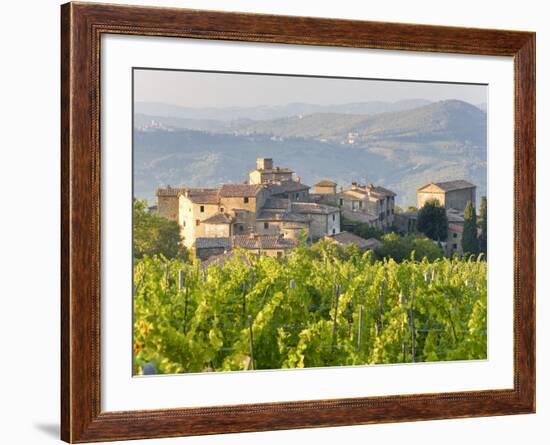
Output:
<path fill-rule="evenodd" d="M 134 257 L 164 255 L 166 258 L 187 257 L 181 244 L 180 229 L 158 213 L 147 210 L 147 201 L 134 200 Z"/>

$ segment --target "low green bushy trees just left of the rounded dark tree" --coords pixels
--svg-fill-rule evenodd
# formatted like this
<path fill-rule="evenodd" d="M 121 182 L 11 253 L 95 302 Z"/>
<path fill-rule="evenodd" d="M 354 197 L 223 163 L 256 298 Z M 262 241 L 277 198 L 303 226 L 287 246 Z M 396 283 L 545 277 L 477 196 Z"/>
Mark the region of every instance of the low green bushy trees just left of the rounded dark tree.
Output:
<path fill-rule="evenodd" d="M 399 236 L 389 233 L 382 237 L 382 245 L 376 250 L 380 258 L 391 258 L 398 263 L 410 260 L 413 252 L 417 260 L 427 258 L 434 261 L 443 257 L 441 247 L 424 235 Z"/>

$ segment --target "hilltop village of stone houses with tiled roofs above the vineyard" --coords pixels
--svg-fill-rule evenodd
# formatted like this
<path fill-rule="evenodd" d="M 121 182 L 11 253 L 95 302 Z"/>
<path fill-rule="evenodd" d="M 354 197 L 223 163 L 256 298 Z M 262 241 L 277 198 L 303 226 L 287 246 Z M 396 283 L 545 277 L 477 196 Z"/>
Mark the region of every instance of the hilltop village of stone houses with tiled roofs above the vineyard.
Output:
<path fill-rule="evenodd" d="M 448 219 L 446 253 L 461 253 L 464 208 L 475 206 L 475 185 L 464 181 L 430 183 L 417 190 L 417 207 L 437 200 Z M 379 241 L 342 231 L 342 222 L 365 223 L 382 232 L 416 231 L 417 212 L 395 211 L 396 194 L 374 184 L 352 182 L 338 190 L 336 182 L 324 179 L 313 187 L 301 182 L 286 167 L 258 158 L 256 169 L 242 184 L 219 188 L 159 188 L 156 210 L 177 221 L 183 244 L 202 260 L 213 259 L 243 248 L 280 257 L 292 249 L 302 234 L 308 241 L 321 238 L 341 245 L 355 244 L 361 250 L 375 249 Z"/>

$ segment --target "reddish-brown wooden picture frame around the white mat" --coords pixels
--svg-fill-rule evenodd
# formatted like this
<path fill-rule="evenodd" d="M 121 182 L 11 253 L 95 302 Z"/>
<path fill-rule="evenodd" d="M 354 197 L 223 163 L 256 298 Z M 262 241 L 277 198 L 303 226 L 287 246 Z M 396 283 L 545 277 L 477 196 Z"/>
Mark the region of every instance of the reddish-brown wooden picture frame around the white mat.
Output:
<path fill-rule="evenodd" d="M 61 7 L 61 34 L 63 440 L 93 442 L 535 411 L 534 33 L 68 3 Z M 103 34 L 513 57 L 516 197 L 513 389 L 102 412 L 99 116 Z"/>

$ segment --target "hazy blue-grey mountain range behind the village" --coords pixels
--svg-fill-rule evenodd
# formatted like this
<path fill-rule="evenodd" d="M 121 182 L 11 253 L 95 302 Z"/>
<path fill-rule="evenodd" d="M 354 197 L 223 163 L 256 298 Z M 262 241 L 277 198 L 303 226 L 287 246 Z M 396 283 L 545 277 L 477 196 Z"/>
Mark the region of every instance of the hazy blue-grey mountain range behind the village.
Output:
<path fill-rule="evenodd" d="M 369 181 L 415 205 L 425 183 L 467 179 L 486 193 L 487 117 L 458 100 L 325 107 L 189 109 L 137 103 L 134 193 L 158 186 L 242 182 L 256 157 L 273 157 L 313 185 Z M 252 118 L 253 117 L 253 118 Z"/>

